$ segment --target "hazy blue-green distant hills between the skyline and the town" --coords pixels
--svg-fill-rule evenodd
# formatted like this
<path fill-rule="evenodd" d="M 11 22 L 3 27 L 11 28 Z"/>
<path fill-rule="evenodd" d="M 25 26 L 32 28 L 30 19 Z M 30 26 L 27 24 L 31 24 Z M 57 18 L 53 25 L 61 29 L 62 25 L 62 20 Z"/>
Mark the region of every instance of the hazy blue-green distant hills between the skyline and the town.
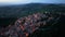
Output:
<path fill-rule="evenodd" d="M 20 17 L 44 11 L 65 12 L 65 4 L 28 3 L 0 7 L 0 17 Z"/>

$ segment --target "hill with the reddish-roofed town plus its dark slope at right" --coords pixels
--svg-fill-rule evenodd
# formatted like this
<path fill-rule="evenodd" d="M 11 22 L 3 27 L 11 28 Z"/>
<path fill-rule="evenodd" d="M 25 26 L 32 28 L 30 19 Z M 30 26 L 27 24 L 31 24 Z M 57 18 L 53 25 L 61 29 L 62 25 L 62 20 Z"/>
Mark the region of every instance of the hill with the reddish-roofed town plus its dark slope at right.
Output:
<path fill-rule="evenodd" d="M 53 37 L 63 33 L 64 15 L 51 13 L 35 13 L 24 16 L 14 22 L 13 25 L 0 29 L 2 37 Z M 62 25 L 63 24 L 63 25 Z M 61 29 L 63 28 L 63 29 Z M 61 32 L 62 33 L 61 33 Z"/>

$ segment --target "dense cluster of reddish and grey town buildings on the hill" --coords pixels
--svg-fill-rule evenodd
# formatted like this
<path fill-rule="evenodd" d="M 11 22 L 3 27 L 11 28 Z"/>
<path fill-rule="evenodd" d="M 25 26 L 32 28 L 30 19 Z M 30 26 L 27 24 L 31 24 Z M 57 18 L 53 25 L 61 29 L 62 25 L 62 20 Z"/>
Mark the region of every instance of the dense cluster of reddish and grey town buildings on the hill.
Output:
<path fill-rule="evenodd" d="M 52 14 L 35 13 L 15 21 L 14 25 L 9 25 L 0 30 L 0 37 L 28 37 L 40 26 L 48 25 L 48 22 L 54 21 Z"/>

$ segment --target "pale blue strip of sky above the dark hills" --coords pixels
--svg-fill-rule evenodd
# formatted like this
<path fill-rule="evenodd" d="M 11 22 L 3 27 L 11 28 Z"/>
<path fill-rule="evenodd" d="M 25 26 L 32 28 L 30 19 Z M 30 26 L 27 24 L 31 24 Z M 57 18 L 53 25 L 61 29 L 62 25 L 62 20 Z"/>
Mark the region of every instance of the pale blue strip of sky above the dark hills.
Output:
<path fill-rule="evenodd" d="M 23 4 L 23 3 L 65 3 L 65 0 L 0 0 L 0 5 Z"/>

